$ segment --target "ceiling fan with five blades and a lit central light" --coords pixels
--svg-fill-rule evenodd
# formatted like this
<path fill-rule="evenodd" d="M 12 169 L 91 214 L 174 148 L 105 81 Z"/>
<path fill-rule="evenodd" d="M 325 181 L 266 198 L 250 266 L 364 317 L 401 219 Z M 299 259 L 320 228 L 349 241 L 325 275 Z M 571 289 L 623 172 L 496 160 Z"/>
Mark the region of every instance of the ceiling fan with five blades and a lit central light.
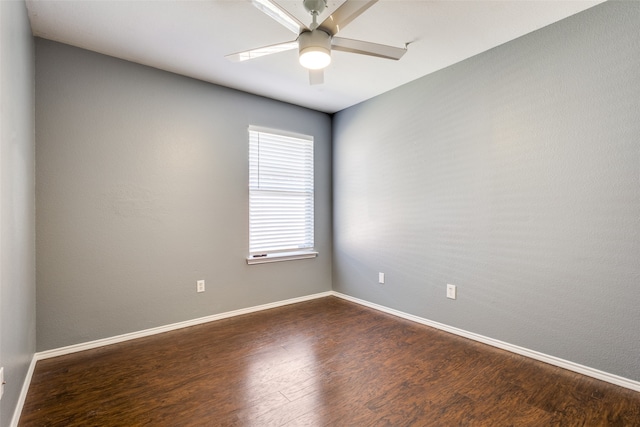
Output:
<path fill-rule="evenodd" d="M 309 82 L 312 85 L 324 82 L 323 69 L 331 63 L 331 50 L 398 60 L 407 51 L 408 43 L 404 48 L 398 48 L 335 36 L 377 1 L 346 0 L 327 19 L 318 24 L 318 16 L 326 8 L 327 0 L 302 0 L 304 8 L 312 17 L 311 25 L 307 27 L 273 0 L 251 0 L 259 10 L 298 37 L 293 41 L 227 55 L 226 58 L 240 62 L 297 48 L 300 64 L 309 69 Z"/>

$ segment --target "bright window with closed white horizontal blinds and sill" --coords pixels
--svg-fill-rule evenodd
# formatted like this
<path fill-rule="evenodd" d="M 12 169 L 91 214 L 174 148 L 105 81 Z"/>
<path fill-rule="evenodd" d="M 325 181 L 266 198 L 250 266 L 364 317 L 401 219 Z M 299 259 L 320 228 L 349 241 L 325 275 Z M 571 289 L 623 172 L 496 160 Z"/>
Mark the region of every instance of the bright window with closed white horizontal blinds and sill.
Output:
<path fill-rule="evenodd" d="M 317 255 L 313 137 L 249 127 L 249 264 Z"/>

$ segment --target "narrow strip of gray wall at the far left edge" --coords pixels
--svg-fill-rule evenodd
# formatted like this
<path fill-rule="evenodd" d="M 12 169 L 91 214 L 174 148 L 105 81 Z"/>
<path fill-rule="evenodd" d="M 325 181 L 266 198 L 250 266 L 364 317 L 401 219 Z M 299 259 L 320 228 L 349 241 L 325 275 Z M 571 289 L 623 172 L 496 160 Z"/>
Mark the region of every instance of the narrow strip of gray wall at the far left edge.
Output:
<path fill-rule="evenodd" d="M 9 425 L 36 346 L 34 43 L 23 1 L 0 1 L 0 366 Z"/>

